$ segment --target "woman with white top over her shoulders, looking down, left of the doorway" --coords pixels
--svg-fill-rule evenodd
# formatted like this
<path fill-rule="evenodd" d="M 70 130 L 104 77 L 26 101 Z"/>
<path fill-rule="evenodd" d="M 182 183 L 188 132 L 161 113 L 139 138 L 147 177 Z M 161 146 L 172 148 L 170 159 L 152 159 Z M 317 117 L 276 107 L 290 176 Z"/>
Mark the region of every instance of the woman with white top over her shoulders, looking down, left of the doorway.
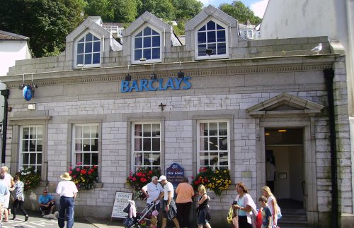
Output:
<path fill-rule="evenodd" d="M 236 210 L 239 220 L 239 228 L 252 228 L 251 210 L 256 213 L 256 204 L 249 195 L 249 189 L 243 182 L 236 183 L 236 196 L 232 206 Z"/>

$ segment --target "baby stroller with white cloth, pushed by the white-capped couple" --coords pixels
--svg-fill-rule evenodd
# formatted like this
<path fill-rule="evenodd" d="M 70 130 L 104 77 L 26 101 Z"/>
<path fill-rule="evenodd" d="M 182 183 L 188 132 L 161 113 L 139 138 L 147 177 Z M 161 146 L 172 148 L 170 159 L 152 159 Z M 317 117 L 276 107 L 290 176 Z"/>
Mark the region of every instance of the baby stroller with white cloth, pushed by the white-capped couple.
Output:
<path fill-rule="evenodd" d="M 146 227 L 147 224 L 150 223 L 150 219 L 152 215 L 156 215 L 156 212 L 152 212 L 155 210 L 155 205 L 154 203 L 150 203 L 147 205 L 147 208 L 144 208 L 142 212 L 137 213 L 137 208 L 135 207 L 135 201 L 134 200 L 128 200 L 129 205 L 127 205 L 127 208 L 129 208 L 129 212 L 127 215 L 127 218 L 123 221 L 125 228 L 132 228 L 132 227 L 142 227 L 143 224 Z M 126 209 L 125 208 L 125 211 Z M 157 215 L 159 215 L 159 212 L 157 212 Z"/>

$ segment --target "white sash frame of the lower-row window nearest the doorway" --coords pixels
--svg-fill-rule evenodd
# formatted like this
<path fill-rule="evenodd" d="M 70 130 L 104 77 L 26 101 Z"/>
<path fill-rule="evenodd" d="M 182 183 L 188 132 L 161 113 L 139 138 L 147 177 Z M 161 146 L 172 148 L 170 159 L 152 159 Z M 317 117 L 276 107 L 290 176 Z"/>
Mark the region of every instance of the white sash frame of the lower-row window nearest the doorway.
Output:
<path fill-rule="evenodd" d="M 227 169 L 230 170 L 231 168 L 231 140 L 230 140 L 230 121 L 227 119 L 211 119 L 211 120 L 199 120 L 197 121 L 197 170 L 199 170 L 201 167 L 205 167 L 205 166 L 201 166 L 200 165 L 200 153 L 201 152 L 225 152 L 225 150 L 202 150 L 200 149 L 200 138 L 204 138 L 205 136 L 200 136 L 200 124 L 210 124 L 210 123 L 221 123 L 221 122 L 226 122 L 227 123 Z M 219 133 L 217 134 L 217 136 L 219 136 Z M 211 166 L 210 167 L 217 167 L 219 168 L 219 160 L 218 160 L 218 164 Z"/>

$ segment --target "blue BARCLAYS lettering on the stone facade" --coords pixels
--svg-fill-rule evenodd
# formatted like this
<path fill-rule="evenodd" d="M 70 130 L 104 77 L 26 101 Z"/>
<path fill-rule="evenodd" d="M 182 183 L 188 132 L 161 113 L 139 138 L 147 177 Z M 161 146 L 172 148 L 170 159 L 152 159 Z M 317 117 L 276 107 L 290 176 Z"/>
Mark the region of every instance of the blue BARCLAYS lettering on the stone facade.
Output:
<path fill-rule="evenodd" d="M 141 79 L 141 80 L 122 80 L 120 92 L 142 92 L 156 90 L 188 90 L 191 86 L 190 77 L 184 78 L 164 78 Z"/>

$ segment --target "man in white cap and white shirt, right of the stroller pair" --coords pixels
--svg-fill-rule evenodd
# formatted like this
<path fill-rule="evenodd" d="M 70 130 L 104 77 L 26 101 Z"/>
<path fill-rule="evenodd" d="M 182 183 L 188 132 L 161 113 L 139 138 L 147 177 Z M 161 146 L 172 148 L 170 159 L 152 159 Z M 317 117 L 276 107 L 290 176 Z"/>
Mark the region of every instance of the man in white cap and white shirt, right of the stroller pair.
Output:
<path fill-rule="evenodd" d="M 162 218 L 161 228 L 166 228 L 167 219 L 172 220 L 176 228 L 180 228 L 176 217 L 177 207 L 175 200 L 173 200 L 173 185 L 171 182 L 167 181 L 167 178 L 164 175 L 160 176 L 158 181 L 164 186 L 164 192 L 162 192 L 159 196 L 159 198 L 164 197 L 164 200 L 162 200 L 164 217 Z"/>

